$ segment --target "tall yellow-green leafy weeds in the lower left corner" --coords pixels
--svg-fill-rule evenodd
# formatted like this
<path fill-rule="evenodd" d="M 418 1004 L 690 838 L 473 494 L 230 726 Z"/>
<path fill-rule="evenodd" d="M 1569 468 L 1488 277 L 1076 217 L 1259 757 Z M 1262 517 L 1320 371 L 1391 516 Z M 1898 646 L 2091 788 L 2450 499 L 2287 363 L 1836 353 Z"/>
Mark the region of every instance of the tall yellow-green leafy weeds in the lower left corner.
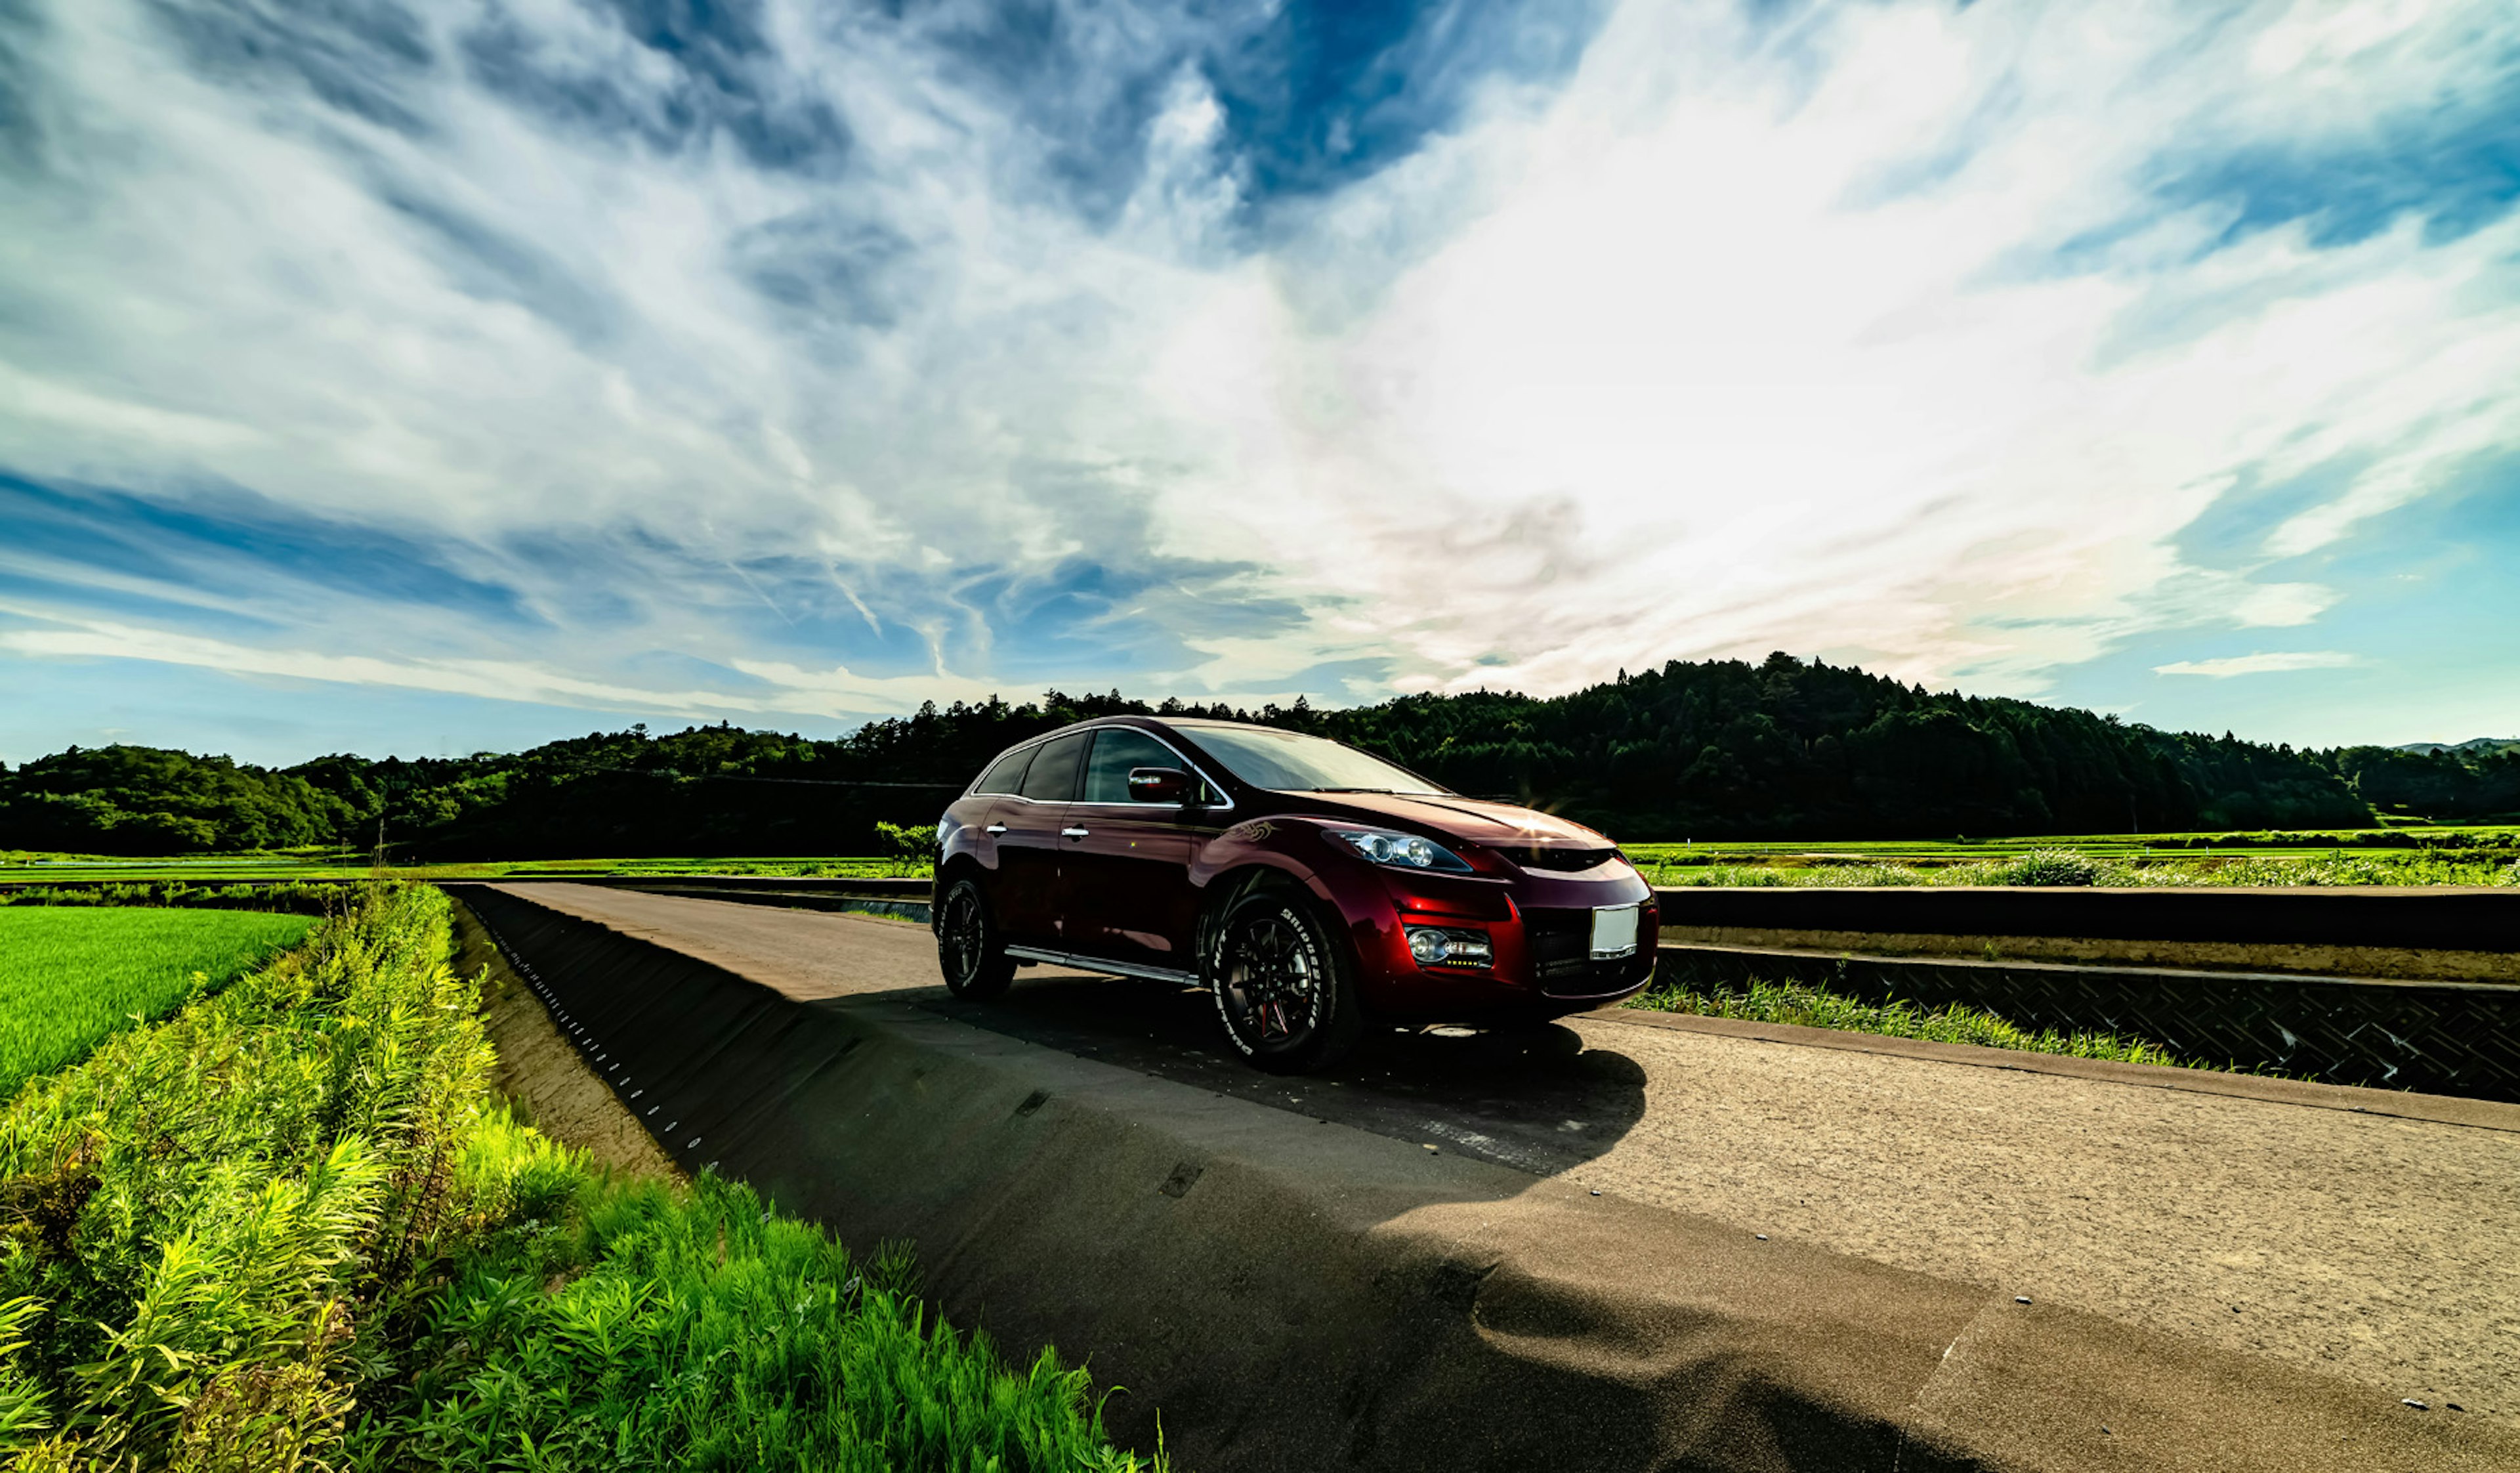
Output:
<path fill-rule="evenodd" d="M 444 958 L 444 895 L 381 888 L 0 1112 L 0 1301 L 33 1307 L 0 1448 L 323 1460 L 375 1354 L 375 1264 L 436 1226 L 479 1110 L 489 1044 Z"/>

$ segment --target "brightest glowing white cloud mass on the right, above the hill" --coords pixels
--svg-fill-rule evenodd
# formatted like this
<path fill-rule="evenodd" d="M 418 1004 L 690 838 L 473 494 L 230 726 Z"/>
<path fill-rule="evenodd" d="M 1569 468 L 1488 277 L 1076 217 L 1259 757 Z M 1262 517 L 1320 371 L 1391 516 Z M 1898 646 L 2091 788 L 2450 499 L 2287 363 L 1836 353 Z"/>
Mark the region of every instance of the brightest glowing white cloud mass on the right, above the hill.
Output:
<path fill-rule="evenodd" d="M 2170 550 L 2238 469 L 2381 457 L 2283 557 L 2520 431 L 2510 222 L 2197 255 L 2225 224 L 2200 207 L 2034 270 L 2152 209 L 2145 172 L 2192 129 L 2311 124 L 2281 71 L 2223 68 L 2245 20 L 1855 8 L 1789 58 L 1734 18 L 1630 5 L 1540 121 L 1452 144 L 1497 204 L 1353 267 L 1386 275 L 1373 310 L 1323 328 L 1242 282 L 1184 323 L 1154 388 L 1240 451 L 1217 545 L 1371 590 L 1421 684 L 1819 648 L 2034 691 L 2172 613 L 2334 605 Z M 2457 66 L 2354 81 L 2404 106 Z M 1875 202 L 1938 151 L 1945 179 Z M 1411 187 L 1336 212 L 1404 217 Z"/>

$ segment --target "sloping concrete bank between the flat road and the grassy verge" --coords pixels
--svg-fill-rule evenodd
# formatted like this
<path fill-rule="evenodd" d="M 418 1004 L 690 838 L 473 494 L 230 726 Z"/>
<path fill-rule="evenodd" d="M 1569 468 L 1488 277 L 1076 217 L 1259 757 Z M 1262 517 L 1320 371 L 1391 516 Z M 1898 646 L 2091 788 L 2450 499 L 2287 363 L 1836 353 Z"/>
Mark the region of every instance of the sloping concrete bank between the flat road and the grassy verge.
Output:
<path fill-rule="evenodd" d="M 2008 1294 L 799 1004 L 454 885 L 690 1170 L 910 1238 L 960 1327 L 1086 1357 L 1114 1433 L 1240 1468 L 2510 1468 L 2520 1440 Z"/>

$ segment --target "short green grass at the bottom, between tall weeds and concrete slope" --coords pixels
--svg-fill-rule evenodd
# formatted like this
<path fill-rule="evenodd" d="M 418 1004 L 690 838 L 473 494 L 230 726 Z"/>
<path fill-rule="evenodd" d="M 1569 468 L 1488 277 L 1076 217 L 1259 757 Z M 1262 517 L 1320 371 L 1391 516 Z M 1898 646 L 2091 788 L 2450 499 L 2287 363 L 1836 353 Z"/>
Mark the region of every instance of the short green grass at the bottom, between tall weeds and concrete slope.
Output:
<path fill-rule="evenodd" d="M 857 1261 L 743 1185 L 597 1178 L 491 1120 L 464 1173 L 514 1183 L 449 1264 L 408 1382 L 353 1468 L 1124 1470 L 1086 1375 L 1011 1370 L 917 1299 L 905 1251 Z"/>

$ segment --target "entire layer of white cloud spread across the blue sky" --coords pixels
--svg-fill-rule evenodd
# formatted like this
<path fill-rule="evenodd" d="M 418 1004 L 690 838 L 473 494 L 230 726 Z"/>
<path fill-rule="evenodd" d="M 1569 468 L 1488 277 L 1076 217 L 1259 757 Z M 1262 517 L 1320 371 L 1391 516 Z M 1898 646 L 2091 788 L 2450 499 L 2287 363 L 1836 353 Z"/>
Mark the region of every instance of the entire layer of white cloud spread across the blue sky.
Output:
<path fill-rule="evenodd" d="M 512 10 L 663 116 L 658 53 L 580 5 Z M 476 15 L 444 10 L 431 43 L 454 55 Z M 1104 86 L 1192 20 L 1079 25 Z M 1635 0 L 1565 86 L 1494 83 L 1237 252 L 1252 179 L 1192 66 L 1162 73 L 1147 169 L 1096 224 L 970 66 L 801 3 L 771 8 L 779 86 L 844 111 L 837 179 L 559 126 L 454 66 L 403 86 L 433 129 L 406 136 L 202 81 L 131 0 L 63 3 L 45 174 L 0 214 L 20 282 L 0 464 L 441 530 L 542 626 L 438 620 L 433 661 L 378 633 L 393 615 L 292 603 L 260 656 L 139 615 L 8 648 L 902 709 L 1016 668 L 1028 631 L 978 583 L 1079 560 L 1255 562 L 1235 598 L 1295 610 L 1187 633 L 1169 666 L 1091 668 L 1114 615 L 1066 646 L 1086 668 L 1058 678 L 1149 694 L 1338 658 L 1409 689 L 1565 689 L 1767 648 L 2034 694 L 2145 631 L 2313 626 L 2336 588 L 2175 537 L 2243 474 L 2361 462 L 2253 542 L 2301 557 L 2512 444 L 2520 222 L 2223 242 L 2228 202 L 2162 209 L 2152 187 L 2200 151 L 2313 149 L 2485 86 L 2492 48 L 2465 40 L 2495 25 L 2490 5 L 2177 0 L 1764 25 Z M 489 245 L 466 255 L 464 230 Z M 811 290 L 764 295 L 746 272 L 789 245 L 771 267 Z M 554 527 L 675 540 L 723 588 L 625 555 L 585 613 L 585 588 L 507 552 Z M 1121 600 L 1139 626 L 1184 618 L 1189 595 L 1144 588 Z M 761 648 L 738 618 L 759 605 L 832 648 Z M 895 628 L 927 636 L 917 663 L 847 648 Z M 622 673 L 655 651 L 776 694 Z"/>

